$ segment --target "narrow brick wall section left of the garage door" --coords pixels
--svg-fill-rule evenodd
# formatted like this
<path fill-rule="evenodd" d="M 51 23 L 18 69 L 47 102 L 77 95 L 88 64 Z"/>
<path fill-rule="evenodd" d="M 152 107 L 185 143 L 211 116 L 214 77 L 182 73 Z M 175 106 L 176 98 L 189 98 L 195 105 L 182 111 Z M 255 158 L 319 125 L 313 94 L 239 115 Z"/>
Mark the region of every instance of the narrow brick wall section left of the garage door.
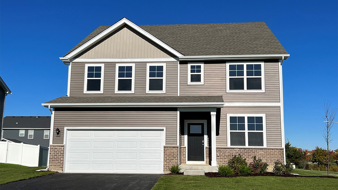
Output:
<path fill-rule="evenodd" d="M 49 148 L 49 170 L 63 172 L 65 145 L 50 145 Z"/>

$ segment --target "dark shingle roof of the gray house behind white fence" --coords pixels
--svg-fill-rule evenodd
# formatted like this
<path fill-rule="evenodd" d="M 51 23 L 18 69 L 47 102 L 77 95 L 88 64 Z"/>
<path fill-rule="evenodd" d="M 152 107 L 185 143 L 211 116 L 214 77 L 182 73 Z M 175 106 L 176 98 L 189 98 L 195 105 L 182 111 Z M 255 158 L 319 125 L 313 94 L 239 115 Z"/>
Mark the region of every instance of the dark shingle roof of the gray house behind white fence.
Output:
<path fill-rule="evenodd" d="M 18 124 L 17 124 L 18 123 Z M 50 128 L 50 116 L 6 116 L 3 128 Z"/>

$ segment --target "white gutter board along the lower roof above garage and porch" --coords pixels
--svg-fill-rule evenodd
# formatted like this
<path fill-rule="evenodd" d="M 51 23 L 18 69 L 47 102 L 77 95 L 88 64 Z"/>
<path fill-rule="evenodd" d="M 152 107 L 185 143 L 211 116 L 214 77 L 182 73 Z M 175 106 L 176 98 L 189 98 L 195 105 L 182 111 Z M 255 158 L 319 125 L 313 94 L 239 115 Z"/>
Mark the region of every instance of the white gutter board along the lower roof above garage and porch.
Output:
<path fill-rule="evenodd" d="M 224 102 L 200 103 L 59 103 L 42 104 L 51 107 L 223 107 Z"/>

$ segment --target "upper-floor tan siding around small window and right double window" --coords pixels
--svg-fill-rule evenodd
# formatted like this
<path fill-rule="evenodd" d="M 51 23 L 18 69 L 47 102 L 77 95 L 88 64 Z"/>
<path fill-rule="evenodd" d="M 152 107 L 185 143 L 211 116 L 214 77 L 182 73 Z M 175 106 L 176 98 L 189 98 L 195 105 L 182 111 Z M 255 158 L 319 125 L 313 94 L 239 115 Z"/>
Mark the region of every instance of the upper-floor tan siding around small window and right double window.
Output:
<path fill-rule="evenodd" d="M 188 85 L 187 69 L 187 64 L 180 64 L 180 96 L 223 96 L 224 102 L 280 102 L 279 63 L 264 63 L 265 93 L 226 93 L 225 63 L 204 64 L 204 85 Z"/>

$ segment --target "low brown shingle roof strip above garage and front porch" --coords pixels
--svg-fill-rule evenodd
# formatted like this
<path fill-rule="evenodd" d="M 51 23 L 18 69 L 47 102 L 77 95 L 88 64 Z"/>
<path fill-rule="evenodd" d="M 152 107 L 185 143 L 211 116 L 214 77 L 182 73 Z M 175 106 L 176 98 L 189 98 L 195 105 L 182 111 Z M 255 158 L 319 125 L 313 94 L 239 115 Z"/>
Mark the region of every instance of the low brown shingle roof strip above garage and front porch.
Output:
<path fill-rule="evenodd" d="M 85 103 L 203 103 L 224 102 L 222 96 L 60 97 L 44 104 Z"/>

